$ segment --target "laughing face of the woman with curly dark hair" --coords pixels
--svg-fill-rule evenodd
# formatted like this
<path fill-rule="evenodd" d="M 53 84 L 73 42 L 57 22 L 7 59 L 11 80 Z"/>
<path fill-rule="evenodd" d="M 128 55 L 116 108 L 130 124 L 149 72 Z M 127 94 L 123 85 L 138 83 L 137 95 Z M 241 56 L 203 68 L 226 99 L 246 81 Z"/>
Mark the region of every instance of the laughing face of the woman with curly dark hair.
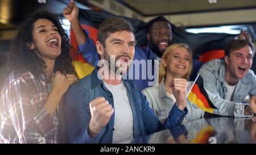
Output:
<path fill-rule="evenodd" d="M 61 37 L 57 27 L 48 19 L 33 24 L 32 43 L 29 44 L 44 62 L 55 60 L 61 53 Z"/>

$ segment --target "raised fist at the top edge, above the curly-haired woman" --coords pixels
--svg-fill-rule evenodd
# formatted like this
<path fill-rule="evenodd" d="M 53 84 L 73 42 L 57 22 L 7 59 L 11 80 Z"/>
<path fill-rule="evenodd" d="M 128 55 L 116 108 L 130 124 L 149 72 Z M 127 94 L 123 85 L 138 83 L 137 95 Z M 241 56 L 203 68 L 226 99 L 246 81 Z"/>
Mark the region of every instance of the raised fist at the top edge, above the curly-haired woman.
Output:
<path fill-rule="evenodd" d="M 69 20 L 69 22 L 73 22 L 74 20 L 78 20 L 79 16 L 79 8 L 76 6 L 75 2 L 71 0 L 65 9 L 63 9 L 63 15 L 65 18 Z"/>

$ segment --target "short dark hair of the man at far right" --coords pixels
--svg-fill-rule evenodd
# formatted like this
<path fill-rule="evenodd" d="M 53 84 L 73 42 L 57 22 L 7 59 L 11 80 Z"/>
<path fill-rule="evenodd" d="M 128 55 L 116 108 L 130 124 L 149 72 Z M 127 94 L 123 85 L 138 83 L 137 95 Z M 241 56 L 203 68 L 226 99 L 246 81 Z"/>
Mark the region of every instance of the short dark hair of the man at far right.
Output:
<path fill-rule="evenodd" d="M 245 47 L 246 45 L 248 45 L 251 48 L 251 51 L 253 51 L 253 56 L 254 56 L 254 45 L 253 45 L 253 43 L 251 43 L 251 41 L 246 40 L 246 39 L 245 40 L 234 39 L 234 40 L 230 41 L 230 43 L 225 48 L 225 56 L 230 56 L 231 51 L 241 49 L 241 48 Z"/>

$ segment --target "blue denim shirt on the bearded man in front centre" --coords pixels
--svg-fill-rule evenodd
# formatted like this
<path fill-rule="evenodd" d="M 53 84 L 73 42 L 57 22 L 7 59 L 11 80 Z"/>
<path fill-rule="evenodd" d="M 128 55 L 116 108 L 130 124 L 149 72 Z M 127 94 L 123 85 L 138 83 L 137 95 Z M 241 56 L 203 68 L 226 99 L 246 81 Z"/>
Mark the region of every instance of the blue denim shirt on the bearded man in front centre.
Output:
<path fill-rule="evenodd" d="M 98 70 L 94 69 L 92 74 L 74 83 L 64 96 L 64 119 L 61 120 L 61 123 L 65 124 L 70 143 L 112 143 L 115 113 L 96 137 L 90 138 L 88 135 L 88 125 L 91 118 L 90 101 L 98 97 L 105 97 L 114 108 L 113 95 L 106 89 L 102 80 L 97 78 L 97 72 Z M 187 108 L 181 111 L 174 106 L 166 122 L 160 123 L 148 106 L 146 97 L 135 87 L 134 82 L 122 80 L 133 113 L 134 138 L 174 127 L 183 122 L 185 115 L 187 115 Z"/>

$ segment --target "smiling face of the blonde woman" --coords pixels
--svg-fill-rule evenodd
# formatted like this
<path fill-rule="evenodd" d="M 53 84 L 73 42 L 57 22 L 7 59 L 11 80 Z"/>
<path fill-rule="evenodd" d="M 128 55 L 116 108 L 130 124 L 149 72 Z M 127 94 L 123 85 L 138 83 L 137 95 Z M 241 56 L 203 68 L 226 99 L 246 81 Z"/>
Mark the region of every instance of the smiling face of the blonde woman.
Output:
<path fill-rule="evenodd" d="M 172 77 L 181 78 L 189 70 L 189 64 L 191 57 L 187 49 L 178 47 L 172 49 L 171 54 L 167 57 L 167 60 L 163 58 L 162 63 L 166 68 L 167 73 L 170 73 Z"/>

